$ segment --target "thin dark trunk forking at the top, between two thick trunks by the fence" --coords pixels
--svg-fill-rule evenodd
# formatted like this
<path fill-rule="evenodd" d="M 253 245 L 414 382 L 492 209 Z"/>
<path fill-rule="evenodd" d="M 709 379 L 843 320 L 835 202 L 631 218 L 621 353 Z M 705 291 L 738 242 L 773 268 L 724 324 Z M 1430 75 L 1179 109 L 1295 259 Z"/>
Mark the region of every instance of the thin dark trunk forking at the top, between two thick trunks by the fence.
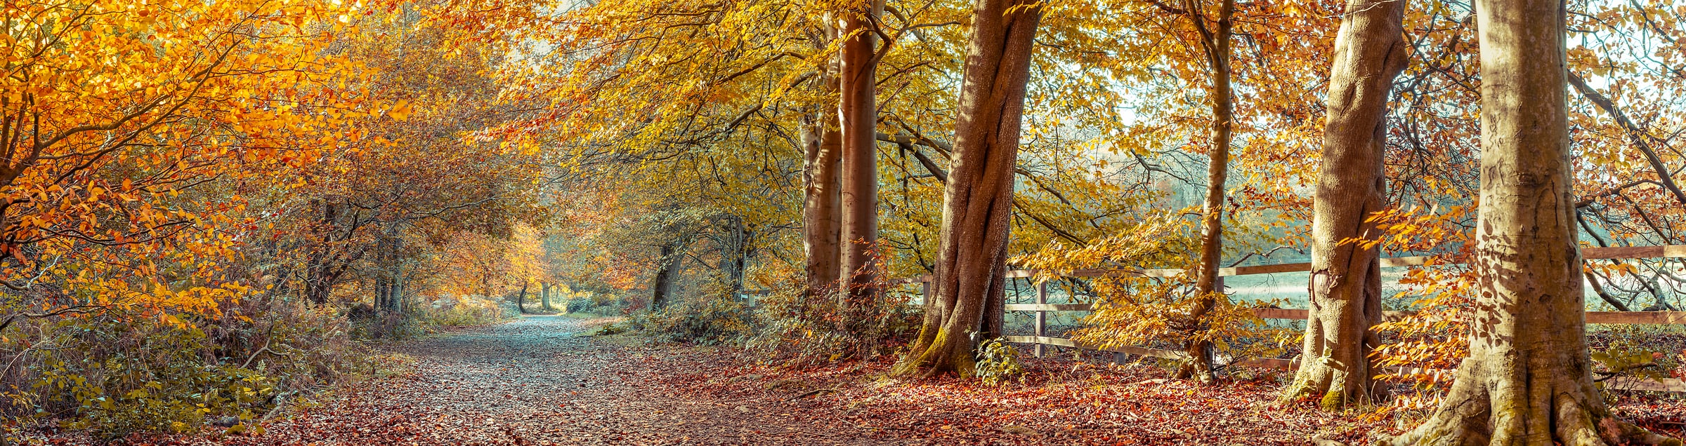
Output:
<path fill-rule="evenodd" d="M 1200 34 L 1207 66 L 1212 71 L 1212 86 L 1207 89 L 1212 101 L 1211 128 L 1211 162 L 1205 173 L 1205 202 L 1200 214 L 1200 259 L 1195 264 L 1195 303 L 1189 311 L 1192 330 L 1205 330 L 1207 316 L 1217 306 L 1219 278 L 1217 263 L 1224 256 L 1224 182 L 1229 180 L 1229 143 L 1234 130 L 1234 93 L 1229 86 L 1229 35 L 1236 12 L 1234 0 L 1222 0 L 1217 12 L 1216 29 L 1209 27 L 1199 0 L 1184 0 L 1185 13 Z M 1200 382 L 1212 382 L 1212 342 L 1192 337 L 1184 343 L 1189 360 L 1177 370 L 1177 377 L 1194 377 Z"/>

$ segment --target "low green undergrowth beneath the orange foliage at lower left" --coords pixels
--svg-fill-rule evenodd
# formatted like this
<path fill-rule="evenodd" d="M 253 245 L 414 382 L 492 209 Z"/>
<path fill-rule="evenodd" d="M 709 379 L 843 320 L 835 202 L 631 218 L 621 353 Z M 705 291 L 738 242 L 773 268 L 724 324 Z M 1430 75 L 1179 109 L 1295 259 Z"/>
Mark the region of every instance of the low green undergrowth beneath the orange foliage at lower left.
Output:
<path fill-rule="evenodd" d="M 59 419 L 96 438 L 191 433 L 261 417 L 285 394 L 368 370 L 339 311 L 277 300 L 219 303 L 165 318 L 101 311 L 20 320 L 0 337 L 7 424 Z M 10 310 L 15 311 L 15 310 Z M 164 321 L 169 320 L 169 321 Z"/>

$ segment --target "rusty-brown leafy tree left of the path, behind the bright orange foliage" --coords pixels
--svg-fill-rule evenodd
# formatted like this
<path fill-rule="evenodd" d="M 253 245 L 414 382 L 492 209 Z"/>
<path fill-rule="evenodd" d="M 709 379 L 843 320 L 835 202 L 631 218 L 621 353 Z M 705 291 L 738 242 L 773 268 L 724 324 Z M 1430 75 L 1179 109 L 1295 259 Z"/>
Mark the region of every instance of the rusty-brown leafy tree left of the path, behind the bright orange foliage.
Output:
<path fill-rule="evenodd" d="M 534 205 L 548 182 L 538 155 L 465 133 L 506 119 L 509 101 L 487 71 L 501 66 L 487 45 L 415 15 L 369 15 L 337 35 L 342 52 L 374 71 L 361 88 L 395 106 L 384 116 L 344 119 L 337 130 L 369 135 L 346 141 L 302 168 L 300 183 L 268 207 L 290 217 L 278 231 L 287 264 L 298 256 L 307 300 L 324 305 L 347 278 L 376 276 L 376 306 L 398 308 L 403 274 L 427 236 L 477 231 L 507 236 L 516 220 L 541 220 Z M 295 252 L 297 251 L 297 252 Z M 396 293 L 395 293 L 396 291 Z M 386 305 L 379 305 L 386 303 Z"/>

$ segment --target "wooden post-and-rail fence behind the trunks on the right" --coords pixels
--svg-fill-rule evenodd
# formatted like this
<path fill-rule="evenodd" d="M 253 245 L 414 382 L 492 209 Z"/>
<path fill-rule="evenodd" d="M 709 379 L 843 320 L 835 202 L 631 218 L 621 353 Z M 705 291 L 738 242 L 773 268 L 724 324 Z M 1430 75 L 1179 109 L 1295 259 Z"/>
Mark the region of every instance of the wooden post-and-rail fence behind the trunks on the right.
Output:
<path fill-rule="evenodd" d="M 1581 256 L 1587 259 L 1654 259 L 1654 258 L 1686 258 L 1686 246 L 1632 246 L 1632 247 L 1583 247 Z M 1381 259 L 1383 268 L 1396 266 L 1423 266 L 1428 264 L 1430 258 L 1388 258 Z M 1219 276 L 1249 276 L 1249 274 L 1271 274 L 1271 273 L 1305 273 L 1310 271 L 1310 263 L 1286 263 L 1286 264 L 1259 264 L 1259 266 L 1241 266 L 1241 268 L 1222 268 Z M 1035 278 L 1044 271 L 1035 269 L 1015 269 L 1007 271 L 1007 278 Z M 1057 274 L 1067 278 L 1103 278 L 1103 276 L 1146 276 L 1146 278 L 1170 278 L 1180 274 L 1182 269 L 1082 269 L 1069 274 Z M 919 276 L 912 279 L 904 279 L 904 283 L 921 283 L 921 293 L 924 296 L 931 295 L 929 276 Z M 1160 358 L 1184 358 L 1180 350 L 1162 350 L 1146 347 L 1093 347 L 1081 345 L 1069 338 L 1057 338 L 1047 335 L 1047 313 L 1050 311 L 1093 311 L 1094 306 L 1089 303 L 1047 303 L 1047 281 L 1035 283 L 1035 300 L 1037 303 L 1015 303 L 1007 305 L 1007 311 L 1034 311 L 1035 313 L 1035 335 L 1030 337 L 1005 337 L 1007 342 L 1030 343 L 1037 357 L 1044 355 L 1045 345 L 1066 347 L 1066 348 L 1084 348 L 1084 350 L 1101 350 L 1113 353 L 1128 353 L 1141 357 L 1160 357 Z M 1305 320 L 1307 310 L 1295 308 L 1258 308 L 1253 313 L 1264 320 Z M 1386 311 L 1384 316 L 1398 318 L 1406 313 Z M 1664 323 L 1664 325 L 1686 325 L 1686 311 L 1587 311 L 1587 323 Z M 1264 369 L 1297 369 L 1298 364 L 1286 358 L 1249 358 L 1239 360 L 1232 365 L 1243 367 L 1264 367 Z M 1448 374 L 1450 370 L 1425 370 L 1425 369 L 1399 369 L 1393 367 L 1389 372 L 1404 374 Z M 1607 384 L 1610 389 L 1624 390 L 1661 390 L 1661 392 L 1686 392 L 1686 382 L 1679 379 L 1664 379 L 1662 382 L 1649 379 L 1617 379 Z"/>

